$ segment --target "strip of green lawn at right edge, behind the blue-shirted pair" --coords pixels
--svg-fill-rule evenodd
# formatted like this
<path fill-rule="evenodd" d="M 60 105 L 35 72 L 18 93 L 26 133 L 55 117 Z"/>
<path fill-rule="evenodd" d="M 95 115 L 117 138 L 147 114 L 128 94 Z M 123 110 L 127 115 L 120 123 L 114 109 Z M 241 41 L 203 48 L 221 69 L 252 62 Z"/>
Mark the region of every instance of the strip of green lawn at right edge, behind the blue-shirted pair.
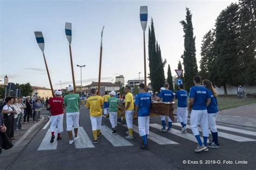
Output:
<path fill-rule="evenodd" d="M 245 100 L 238 99 L 237 96 L 218 96 L 218 108 L 219 110 L 225 110 L 227 108 L 234 108 L 238 106 L 244 106 L 256 103 L 256 98 L 248 97 Z"/>

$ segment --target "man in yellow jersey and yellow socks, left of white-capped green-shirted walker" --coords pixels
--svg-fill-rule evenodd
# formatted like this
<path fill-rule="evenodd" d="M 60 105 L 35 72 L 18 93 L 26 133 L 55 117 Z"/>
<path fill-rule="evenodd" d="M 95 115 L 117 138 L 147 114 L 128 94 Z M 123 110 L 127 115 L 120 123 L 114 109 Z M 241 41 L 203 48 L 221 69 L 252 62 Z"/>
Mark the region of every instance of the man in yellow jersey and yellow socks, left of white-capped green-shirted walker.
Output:
<path fill-rule="evenodd" d="M 86 107 L 90 109 L 90 118 L 92 124 L 93 144 L 98 144 L 98 138 L 102 136 L 100 127 L 102 126 L 102 105 L 103 98 L 97 96 L 97 90 L 91 90 L 92 96 L 87 99 Z"/>

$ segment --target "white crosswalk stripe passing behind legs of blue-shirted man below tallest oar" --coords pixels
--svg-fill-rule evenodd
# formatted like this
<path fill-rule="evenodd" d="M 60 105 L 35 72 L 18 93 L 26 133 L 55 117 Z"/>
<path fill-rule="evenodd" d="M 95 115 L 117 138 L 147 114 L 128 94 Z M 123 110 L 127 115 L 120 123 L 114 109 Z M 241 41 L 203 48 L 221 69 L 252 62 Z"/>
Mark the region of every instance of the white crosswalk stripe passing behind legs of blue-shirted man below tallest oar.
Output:
<path fill-rule="evenodd" d="M 126 125 L 123 125 L 125 127 L 127 127 Z M 132 130 L 136 133 L 139 133 L 139 128 L 138 126 L 133 125 Z M 153 140 L 154 142 L 156 142 L 159 145 L 169 145 L 169 144 L 178 144 L 177 142 L 174 142 L 170 139 L 167 139 L 165 137 L 162 137 L 156 133 L 150 132 L 149 135 L 147 136 L 148 139 Z"/>

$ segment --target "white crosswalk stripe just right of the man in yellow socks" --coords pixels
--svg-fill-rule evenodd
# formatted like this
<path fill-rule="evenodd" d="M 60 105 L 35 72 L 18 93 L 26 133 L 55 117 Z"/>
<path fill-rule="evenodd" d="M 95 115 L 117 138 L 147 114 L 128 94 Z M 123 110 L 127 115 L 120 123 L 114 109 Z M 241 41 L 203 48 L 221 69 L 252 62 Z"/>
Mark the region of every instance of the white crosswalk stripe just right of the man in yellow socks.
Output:
<path fill-rule="evenodd" d="M 102 126 L 100 131 L 113 146 L 133 146 L 133 144 L 122 138 L 119 134 L 113 135 L 112 130 L 106 126 Z"/>

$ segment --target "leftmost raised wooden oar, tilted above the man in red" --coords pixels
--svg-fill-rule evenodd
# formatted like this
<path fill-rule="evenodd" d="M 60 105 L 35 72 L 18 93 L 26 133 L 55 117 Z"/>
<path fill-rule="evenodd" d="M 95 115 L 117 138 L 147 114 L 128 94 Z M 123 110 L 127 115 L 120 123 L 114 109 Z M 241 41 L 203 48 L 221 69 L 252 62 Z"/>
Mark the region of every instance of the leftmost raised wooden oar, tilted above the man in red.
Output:
<path fill-rule="evenodd" d="M 35 36 L 36 36 L 37 44 L 38 44 L 39 48 L 41 49 L 41 51 L 43 52 L 43 56 L 44 56 L 44 37 L 43 37 L 43 33 L 41 31 L 35 31 Z M 46 71 L 47 71 L 50 86 L 51 86 L 52 96 L 54 97 L 54 92 L 53 92 L 53 88 L 52 88 L 52 84 L 51 84 L 51 77 L 50 77 L 50 73 L 49 73 L 49 70 L 48 70 L 48 66 L 47 66 L 47 63 L 46 63 L 45 56 L 44 56 L 44 63 L 45 63 Z"/>

